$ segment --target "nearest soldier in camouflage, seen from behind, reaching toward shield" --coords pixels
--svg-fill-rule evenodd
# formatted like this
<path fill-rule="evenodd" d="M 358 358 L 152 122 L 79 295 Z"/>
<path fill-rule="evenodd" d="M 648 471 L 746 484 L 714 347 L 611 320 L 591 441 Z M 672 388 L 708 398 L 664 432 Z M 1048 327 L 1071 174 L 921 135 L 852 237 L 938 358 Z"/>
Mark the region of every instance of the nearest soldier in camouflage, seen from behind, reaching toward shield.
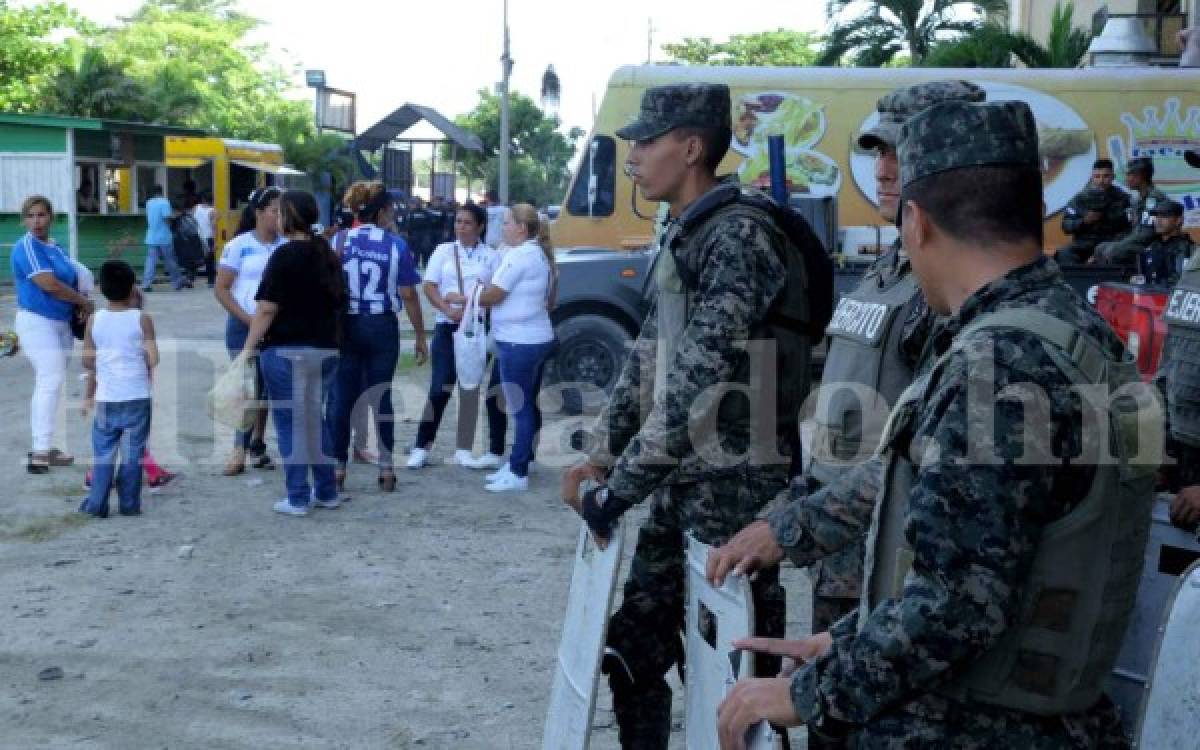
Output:
<path fill-rule="evenodd" d="M 1123 746 L 1102 688 L 1150 526 L 1156 400 L 1042 254 L 1027 104 L 936 104 L 899 156 L 905 247 L 949 317 L 878 457 L 710 560 L 714 578 L 785 551 L 806 565 L 869 528 L 863 606 L 790 679 L 739 683 L 722 746 L 763 718 L 854 748 Z"/>

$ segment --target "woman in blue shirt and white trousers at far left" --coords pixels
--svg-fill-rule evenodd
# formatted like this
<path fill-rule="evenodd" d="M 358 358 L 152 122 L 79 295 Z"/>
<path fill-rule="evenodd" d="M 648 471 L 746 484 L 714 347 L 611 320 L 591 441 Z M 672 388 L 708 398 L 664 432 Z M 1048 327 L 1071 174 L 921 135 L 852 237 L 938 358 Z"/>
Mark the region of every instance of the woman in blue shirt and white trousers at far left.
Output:
<path fill-rule="evenodd" d="M 91 301 L 76 289 L 78 277 L 71 258 L 50 239 L 54 206 L 44 196 L 30 196 L 20 205 L 25 235 L 12 247 L 12 277 L 17 284 L 17 336 L 34 366 L 30 427 L 34 450 L 25 468 L 46 474 L 52 466 L 71 466 L 74 457 L 50 448 L 54 421 L 66 377 L 67 354 L 74 340 L 71 317 L 76 307 L 91 314 Z"/>

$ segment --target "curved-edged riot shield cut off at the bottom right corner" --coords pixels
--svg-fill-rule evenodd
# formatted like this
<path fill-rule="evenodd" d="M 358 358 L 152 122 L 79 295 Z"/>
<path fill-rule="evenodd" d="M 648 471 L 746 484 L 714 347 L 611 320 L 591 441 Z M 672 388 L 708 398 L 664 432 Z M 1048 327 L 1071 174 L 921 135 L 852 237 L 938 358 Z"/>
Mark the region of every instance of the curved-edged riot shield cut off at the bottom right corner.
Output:
<path fill-rule="evenodd" d="M 1146 700 L 1138 719 L 1144 750 L 1195 748 L 1200 737 L 1200 562 L 1193 563 L 1175 589 L 1152 662 Z"/>

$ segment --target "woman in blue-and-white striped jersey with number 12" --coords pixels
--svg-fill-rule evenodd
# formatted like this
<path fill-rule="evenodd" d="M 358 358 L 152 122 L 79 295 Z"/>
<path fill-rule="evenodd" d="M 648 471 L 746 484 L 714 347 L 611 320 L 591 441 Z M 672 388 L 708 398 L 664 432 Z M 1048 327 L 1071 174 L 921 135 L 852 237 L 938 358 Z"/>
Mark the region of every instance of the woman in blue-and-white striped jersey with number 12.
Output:
<path fill-rule="evenodd" d="M 391 378 L 400 359 L 401 307 L 416 332 L 416 362 L 428 355 L 425 320 L 416 296 L 421 277 L 404 240 L 390 228 L 396 217 L 383 182 L 356 184 L 347 191 L 348 208 L 358 227 L 334 238 L 346 275 L 347 307 L 342 319 L 342 346 L 334 382 L 331 432 L 338 486 L 346 480 L 350 444 L 350 414 L 360 398 L 370 398 L 379 436 L 379 487 L 396 488 L 392 452 Z M 402 301 L 403 300 L 403 301 Z"/>

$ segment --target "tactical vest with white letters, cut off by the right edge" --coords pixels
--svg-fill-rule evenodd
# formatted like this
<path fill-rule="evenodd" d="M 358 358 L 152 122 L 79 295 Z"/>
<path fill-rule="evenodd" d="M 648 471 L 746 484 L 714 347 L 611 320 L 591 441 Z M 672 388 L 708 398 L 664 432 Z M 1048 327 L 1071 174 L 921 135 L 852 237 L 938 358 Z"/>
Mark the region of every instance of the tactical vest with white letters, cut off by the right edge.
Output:
<path fill-rule="evenodd" d="M 1200 253 L 1171 292 L 1166 310 L 1166 413 L 1171 437 L 1200 448 Z"/>

